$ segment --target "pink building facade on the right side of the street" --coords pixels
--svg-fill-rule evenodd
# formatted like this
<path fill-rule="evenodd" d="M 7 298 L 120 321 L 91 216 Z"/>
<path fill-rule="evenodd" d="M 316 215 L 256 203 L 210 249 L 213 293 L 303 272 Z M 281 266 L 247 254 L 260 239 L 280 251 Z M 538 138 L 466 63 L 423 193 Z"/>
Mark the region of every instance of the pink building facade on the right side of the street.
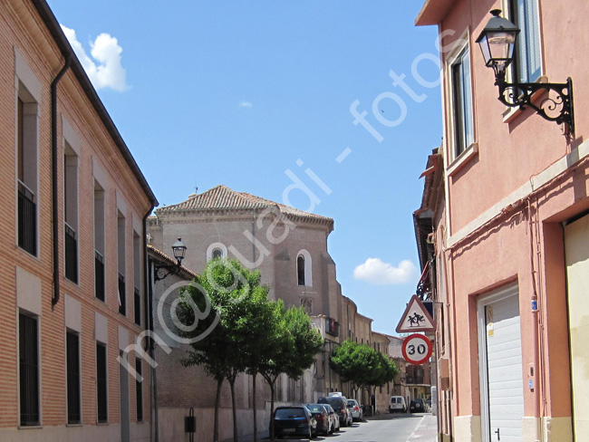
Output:
<path fill-rule="evenodd" d="M 521 29 L 508 82 L 572 78 L 574 134 L 497 101 L 476 43 L 493 9 Z M 416 212 L 433 243 L 440 440 L 587 440 L 588 20 L 574 0 L 428 0 L 417 17 L 440 35 L 443 142 Z"/>

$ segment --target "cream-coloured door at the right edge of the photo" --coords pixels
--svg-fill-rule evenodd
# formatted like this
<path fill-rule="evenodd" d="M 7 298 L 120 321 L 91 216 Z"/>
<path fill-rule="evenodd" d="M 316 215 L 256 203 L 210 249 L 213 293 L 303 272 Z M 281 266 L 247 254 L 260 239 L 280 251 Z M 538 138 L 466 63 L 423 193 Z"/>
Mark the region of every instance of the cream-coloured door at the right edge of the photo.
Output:
<path fill-rule="evenodd" d="M 565 226 L 566 298 L 575 440 L 589 431 L 589 215 Z"/>

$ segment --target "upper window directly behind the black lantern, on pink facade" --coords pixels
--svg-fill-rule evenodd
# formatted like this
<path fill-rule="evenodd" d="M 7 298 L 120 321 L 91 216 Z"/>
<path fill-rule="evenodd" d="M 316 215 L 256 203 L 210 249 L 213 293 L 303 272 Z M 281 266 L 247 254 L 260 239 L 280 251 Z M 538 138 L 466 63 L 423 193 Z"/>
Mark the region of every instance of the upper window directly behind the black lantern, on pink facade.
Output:
<path fill-rule="evenodd" d="M 536 82 L 542 70 L 538 0 L 510 0 L 509 15 L 521 30 L 517 36 L 513 78 L 516 82 Z"/>

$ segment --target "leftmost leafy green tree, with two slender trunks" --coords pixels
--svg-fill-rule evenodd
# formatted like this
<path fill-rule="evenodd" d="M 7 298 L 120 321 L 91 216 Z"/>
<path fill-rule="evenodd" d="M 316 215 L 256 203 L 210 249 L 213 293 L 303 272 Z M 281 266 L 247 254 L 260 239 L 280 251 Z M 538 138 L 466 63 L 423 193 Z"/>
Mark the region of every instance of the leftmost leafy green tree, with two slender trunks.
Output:
<path fill-rule="evenodd" d="M 183 363 L 200 365 L 217 380 L 213 440 L 218 441 L 218 406 L 223 380 L 231 388 L 234 440 L 237 441 L 235 381 L 246 370 L 246 348 L 260 303 L 267 301 L 267 287 L 260 285 L 259 272 L 250 272 L 237 260 L 209 261 L 203 274 L 185 287 L 177 314 L 191 339 Z M 209 314 L 205 314 L 210 310 Z M 193 327 L 187 327 L 196 324 Z"/>

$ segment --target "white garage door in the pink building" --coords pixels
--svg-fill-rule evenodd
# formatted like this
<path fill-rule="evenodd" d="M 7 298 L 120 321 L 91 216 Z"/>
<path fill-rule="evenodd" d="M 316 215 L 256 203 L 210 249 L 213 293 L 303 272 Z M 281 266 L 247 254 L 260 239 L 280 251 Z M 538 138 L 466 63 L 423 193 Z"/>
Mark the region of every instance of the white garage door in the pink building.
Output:
<path fill-rule="evenodd" d="M 524 380 L 517 286 L 478 301 L 481 436 L 520 442 Z"/>

